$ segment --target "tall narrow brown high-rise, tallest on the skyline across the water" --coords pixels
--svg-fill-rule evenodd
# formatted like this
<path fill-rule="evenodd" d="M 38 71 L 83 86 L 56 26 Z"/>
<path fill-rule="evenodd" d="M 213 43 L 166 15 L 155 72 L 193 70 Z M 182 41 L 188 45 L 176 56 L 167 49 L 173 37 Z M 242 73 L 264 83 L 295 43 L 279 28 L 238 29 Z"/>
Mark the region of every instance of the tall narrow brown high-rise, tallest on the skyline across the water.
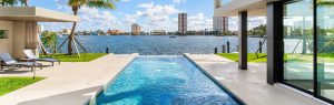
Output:
<path fill-rule="evenodd" d="M 187 13 L 178 14 L 178 32 L 180 34 L 187 33 Z"/>

